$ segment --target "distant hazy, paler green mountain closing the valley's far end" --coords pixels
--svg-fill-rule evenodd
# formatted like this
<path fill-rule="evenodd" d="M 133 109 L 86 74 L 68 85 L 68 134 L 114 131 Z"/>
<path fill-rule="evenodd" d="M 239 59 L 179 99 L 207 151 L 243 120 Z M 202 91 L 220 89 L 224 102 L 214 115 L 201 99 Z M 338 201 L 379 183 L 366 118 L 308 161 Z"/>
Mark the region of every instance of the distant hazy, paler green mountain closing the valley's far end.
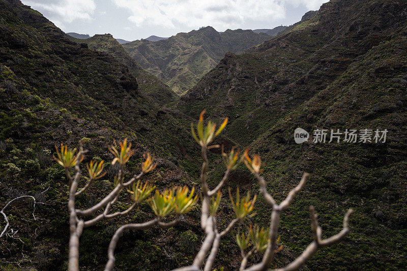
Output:
<path fill-rule="evenodd" d="M 219 33 L 208 26 L 166 40 L 137 40 L 123 47 L 143 69 L 181 94 L 215 67 L 227 51 L 242 52 L 270 38 L 264 33 L 242 29 Z"/>

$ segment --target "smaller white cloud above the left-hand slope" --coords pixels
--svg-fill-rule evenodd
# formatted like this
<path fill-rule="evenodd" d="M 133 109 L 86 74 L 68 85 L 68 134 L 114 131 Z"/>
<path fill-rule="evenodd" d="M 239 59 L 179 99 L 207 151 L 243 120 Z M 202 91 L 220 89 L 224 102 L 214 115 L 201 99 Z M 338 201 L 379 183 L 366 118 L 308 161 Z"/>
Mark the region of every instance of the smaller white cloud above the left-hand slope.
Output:
<path fill-rule="evenodd" d="M 22 2 L 40 11 L 61 28 L 64 28 L 64 23 L 71 23 L 74 20 L 91 20 L 96 9 L 94 0 L 23 0 Z"/>

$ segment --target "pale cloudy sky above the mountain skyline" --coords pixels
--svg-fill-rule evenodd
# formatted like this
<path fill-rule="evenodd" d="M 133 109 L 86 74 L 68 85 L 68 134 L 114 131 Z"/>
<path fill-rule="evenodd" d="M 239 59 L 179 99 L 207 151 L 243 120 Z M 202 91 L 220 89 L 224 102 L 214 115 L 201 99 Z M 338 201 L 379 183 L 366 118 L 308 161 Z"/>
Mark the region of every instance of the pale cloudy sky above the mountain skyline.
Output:
<path fill-rule="evenodd" d="M 299 21 L 328 0 L 22 0 L 65 32 L 111 33 L 129 41 L 201 26 L 273 28 Z"/>

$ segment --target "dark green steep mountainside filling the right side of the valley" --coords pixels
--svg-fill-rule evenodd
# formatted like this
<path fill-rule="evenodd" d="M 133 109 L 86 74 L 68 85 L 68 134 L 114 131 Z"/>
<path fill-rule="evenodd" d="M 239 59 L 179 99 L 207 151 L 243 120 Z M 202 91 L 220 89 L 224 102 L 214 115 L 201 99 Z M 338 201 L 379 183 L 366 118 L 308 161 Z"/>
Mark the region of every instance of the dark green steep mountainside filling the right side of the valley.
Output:
<path fill-rule="evenodd" d="M 227 53 L 177 105 L 191 116 L 207 109 L 212 119 L 229 117 L 226 136 L 261 156 L 277 200 L 301 172 L 311 173 L 281 221 L 281 242 L 290 253 L 299 255 L 311 240 L 309 205 L 321 214 L 327 236 L 340 228 L 347 208 L 355 209 L 346 241 L 319 251 L 304 270 L 402 270 L 407 264 L 405 37 L 405 1 L 331 0 L 278 37 L 240 55 Z M 298 127 L 311 137 L 326 129 L 327 142 L 296 144 Z M 340 143 L 328 143 L 337 129 L 388 134 L 385 143 L 345 143 L 344 134 Z M 244 172 L 235 175 L 232 183 L 257 188 Z M 269 214 L 266 207 L 261 213 Z"/>

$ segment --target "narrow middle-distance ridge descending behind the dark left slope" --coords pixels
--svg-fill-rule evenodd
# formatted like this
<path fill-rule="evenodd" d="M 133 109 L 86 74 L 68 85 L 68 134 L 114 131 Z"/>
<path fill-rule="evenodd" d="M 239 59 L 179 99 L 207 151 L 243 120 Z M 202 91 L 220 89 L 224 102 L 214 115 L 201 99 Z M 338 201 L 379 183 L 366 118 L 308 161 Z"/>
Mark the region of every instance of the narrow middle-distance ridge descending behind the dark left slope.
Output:
<path fill-rule="evenodd" d="M 137 79 L 139 91 L 147 94 L 160 105 L 164 105 L 175 100 L 175 93 L 157 77 L 144 71 L 144 69 L 142 69 L 142 67 L 130 57 L 126 50 L 124 50 L 117 39 L 114 39 L 112 35 L 97 34 L 92 38 L 85 40 L 79 40 L 69 36 L 67 38 L 78 44 L 87 44 L 89 48 L 93 50 L 108 53 L 128 66 L 129 71 Z"/>

